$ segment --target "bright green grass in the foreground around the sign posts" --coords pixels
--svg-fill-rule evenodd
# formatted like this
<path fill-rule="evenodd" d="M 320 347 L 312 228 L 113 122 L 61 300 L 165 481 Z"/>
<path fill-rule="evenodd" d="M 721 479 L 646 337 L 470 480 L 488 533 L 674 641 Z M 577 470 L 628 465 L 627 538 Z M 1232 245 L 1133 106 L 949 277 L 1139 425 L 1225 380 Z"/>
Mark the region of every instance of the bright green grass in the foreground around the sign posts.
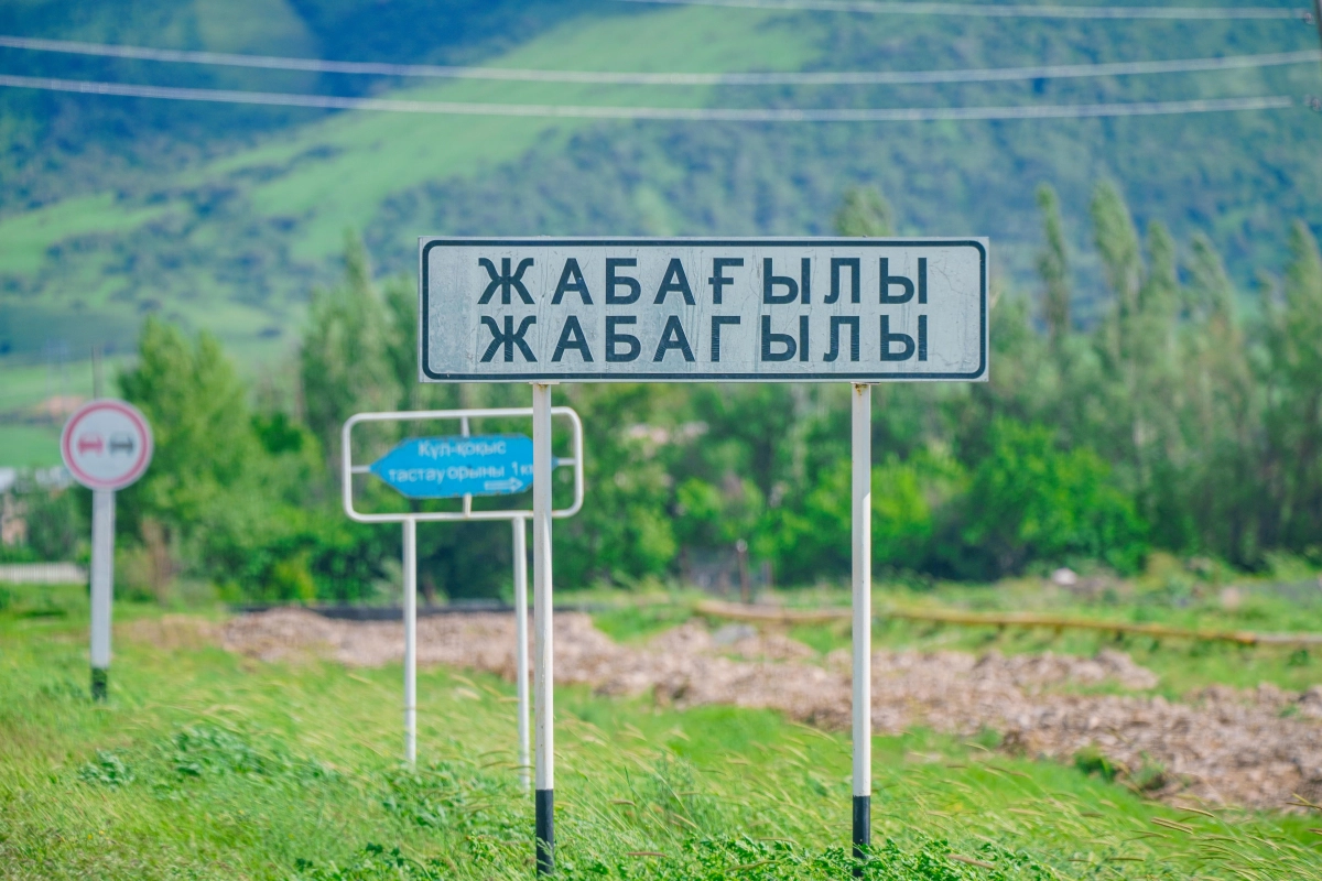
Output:
<path fill-rule="evenodd" d="M 531 876 L 509 684 L 229 655 L 205 618 L 116 609 L 111 700 L 86 699 L 79 589 L 0 610 L 0 877 Z M 849 741 L 769 712 L 558 692 L 559 870 L 849 874 Z M 878 738 L 871 878 L 1322 878 L 1313 818 L 1146 803 L 1072 767 L 916 732 Z"/>

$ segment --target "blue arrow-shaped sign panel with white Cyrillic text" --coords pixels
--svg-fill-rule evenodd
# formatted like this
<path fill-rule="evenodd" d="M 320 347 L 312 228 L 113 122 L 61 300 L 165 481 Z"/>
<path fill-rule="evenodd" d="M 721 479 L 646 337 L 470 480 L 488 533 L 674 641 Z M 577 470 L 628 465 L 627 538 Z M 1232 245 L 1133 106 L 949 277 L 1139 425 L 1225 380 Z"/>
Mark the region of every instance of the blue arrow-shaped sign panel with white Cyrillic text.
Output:
<path fill-rule="evenodd" d="M 512 495 L 533 485 L 533 440 L 410 437 L 373 462 L 371 473 L 408 498 Z"/>

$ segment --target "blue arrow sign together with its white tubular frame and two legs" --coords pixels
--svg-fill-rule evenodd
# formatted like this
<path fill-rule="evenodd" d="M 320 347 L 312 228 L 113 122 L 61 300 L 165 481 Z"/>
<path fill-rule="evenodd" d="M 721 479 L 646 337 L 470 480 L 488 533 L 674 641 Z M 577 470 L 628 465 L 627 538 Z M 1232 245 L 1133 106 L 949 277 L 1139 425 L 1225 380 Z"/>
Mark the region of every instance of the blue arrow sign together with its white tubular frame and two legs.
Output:
<path fill-rule="evenodd" d="M 469 437 L 469 420 L 509 419 L 533 416 L 534 431 L 537 425 L 535 408 L 506 407 L 490 409 L 427 409 L 427 411 L 398 411 L 383 413 L 358 413 L 352 416 L 341 431 L 341 493 L 345 514 L 360 523 L 399 523 L 403 528 L 403 618 L 405 618 L 405 759 L 412 765 L 418 761 L 418 523 L 422 522 L 456 522 L 456 520 L 509 520 L 513 526 L 514 548 L 514 666 L 517 672 L 518 693 L 518 763 L 520 779 L 524 789 L 529 783 L 529 729 L 527 729 L 527 559 L 524 538 L 525 523 L 537 510 L 538 483 L 545 487 L 547 499 L 550 498 L 551 461 L 547 460 L 545 474 L 537 473 L 534 458 L 533 477 L 533 510 L 527 509 L 501 509 L 501 510 L 473 510 L 473 493 L 456 495 L 461 499 L 459 511 L 412 511 L 407 514 L 369 514 L 358 511 L 353 506 L 353 476 L 377 472 L 386 482 L 414 498 L 438 498 L 434 490 L 416 489 L 424 483 L 435 486 L 444 481 L 455 481 L 460 489 L 471 489 L 484 495 L 509 494 L 521 491 L 525 486 L 520 476 L 510 478 L 505 472 L 496 473 L 498 466 L 471 465 L 472 458 L 463 458 L 464 454 L 494 453 L 497 457 L 506 450 L 484 449 L 496 446 L 483 444 L 492 439 L 471 439 L 471 445 L 451 442 Z M 554 465 L 567 465 L 574 468 L 574 503 L 567 509 L 547 511 L 549 516 L 574 516 L 583 507 L 583 423 L 568 407 L 554 407 L 545 413 L 547 437 L 550 436 L 551 416 L 563 416 L 571 428 L 572 456 L 558 458 Z M 459 420 L 459 439 L 414 439 L 401 444 L 390 454 L 378 460 L 374 465 L 353 464 L 353 428 L 361 423 L 402 423 L 402 421 L 434 421 Z M 517 437 L 497 436 L 500 440 L 517 441 Z M 527 442 L 527 439 L 522 439 Z M 424 464 L 419 466 L 412 456 L 414 450 L 407 449 L 415 445 L 424 457 Z M 513 444 L 510 444 L 513 445 Z M 472 446 L 475 449 L 465 449 Z M 549 452 L 549 448 L 547 448 Z M 426 460 L 432 460 L 426 464 Z M 444 461 L 453 460 L 453 464 L 444 465 Z M 398 465 L 398 468 L 394 468 Z M 476 481 L 476 483 L 473 482 Z M 550 502 L 547 502 L 549 505 Z M 534 538 L 535 548 L 535 538 Z"/>

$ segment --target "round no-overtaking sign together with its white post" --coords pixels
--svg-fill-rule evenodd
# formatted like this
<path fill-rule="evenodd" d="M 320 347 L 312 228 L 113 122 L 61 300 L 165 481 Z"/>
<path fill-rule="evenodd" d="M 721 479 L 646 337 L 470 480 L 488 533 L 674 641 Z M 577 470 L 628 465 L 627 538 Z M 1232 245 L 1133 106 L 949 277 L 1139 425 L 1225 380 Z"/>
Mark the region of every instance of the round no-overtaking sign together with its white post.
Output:
<path fill-rule="evenodd" d="M 91 490 L 91 696 L 106 700 L 115 594 L 115 490 L 131 485 L 151 465 L 152 429 L 127 402 L 93 400 L 65 423 L 59 453 L 73 478 Z"/>

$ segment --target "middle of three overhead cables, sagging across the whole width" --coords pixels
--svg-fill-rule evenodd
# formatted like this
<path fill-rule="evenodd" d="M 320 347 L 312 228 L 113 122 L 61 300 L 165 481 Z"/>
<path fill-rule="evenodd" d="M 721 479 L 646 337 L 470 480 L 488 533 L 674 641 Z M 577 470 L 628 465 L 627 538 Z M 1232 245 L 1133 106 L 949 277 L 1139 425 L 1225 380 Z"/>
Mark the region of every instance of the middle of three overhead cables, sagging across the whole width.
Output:
<path fill-rule="evenodd" d="M 460 67 L 447 65 L 395 65 L 383 62 L 321 61 L 278 55 L 243 55 L 185 49 L 152 49 L 36 37 L 0 36 L 0 48 L 54 52 L 137 61 L 299 70 L 332 74 L 389 77 L 435 77 L 453 79 L 500 79 L 516 82 L 592 83 L 612 86 L 895 86 L 906 83 L 972 83 L 1079 77 L 1128 77 L 1175 74 L 1245 67 L 1277 67 L 1322 61 L 1322 50 L 1277 52 L 1220 58 L 1171 61 L 1118 61 L 1088 65 L 1035 65 L 1030 67 L 984 67 L 972 70 L 809 71 L 809 73 L 629 73 L 592 70 L 526 70 L 512 67 Z"/>

